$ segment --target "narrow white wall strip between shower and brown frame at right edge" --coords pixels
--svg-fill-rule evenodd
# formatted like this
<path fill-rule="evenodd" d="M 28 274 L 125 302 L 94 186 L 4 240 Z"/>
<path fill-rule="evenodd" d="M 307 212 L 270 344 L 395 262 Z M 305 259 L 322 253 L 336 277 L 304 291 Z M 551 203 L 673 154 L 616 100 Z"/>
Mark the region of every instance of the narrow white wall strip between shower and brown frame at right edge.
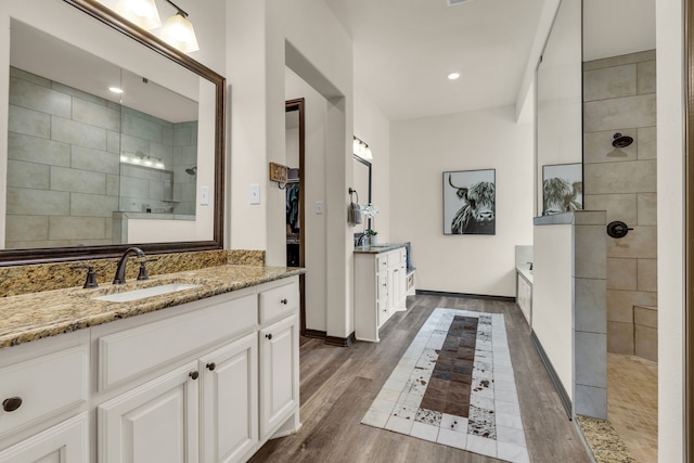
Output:
<path fill-rule="evenodd" d="M 683 1 L 656 2 L 658 57 L 658 461 L 684 453 Z M 692 361 L 691 359 L 689 360 Z"/>

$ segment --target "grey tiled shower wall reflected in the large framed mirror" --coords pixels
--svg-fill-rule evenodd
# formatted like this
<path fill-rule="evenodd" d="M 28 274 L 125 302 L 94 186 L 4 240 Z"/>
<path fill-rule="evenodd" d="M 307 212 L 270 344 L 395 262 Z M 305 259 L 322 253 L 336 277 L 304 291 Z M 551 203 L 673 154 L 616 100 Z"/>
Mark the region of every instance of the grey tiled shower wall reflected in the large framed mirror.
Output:
<path fill-rule="evenodd" d="M 164 211 L 178 204 L 163 201 L 174 198 L 171 182 L 191 181 L 184 169 L 174 179 L 155 169 L 121 170 L 119 152 L 176 169 L 175 160 L 182 166 L 196 152 L 196 123 L 172 125 L 16 68 L 9 115 L 7 248 L 112 244 L 114 210 Z M 175 159 L 176 140 L 189 158 L 179 152 Z M 192 203 L 194 214 L 194 184 L 181 191 L 176 200 Z"/>

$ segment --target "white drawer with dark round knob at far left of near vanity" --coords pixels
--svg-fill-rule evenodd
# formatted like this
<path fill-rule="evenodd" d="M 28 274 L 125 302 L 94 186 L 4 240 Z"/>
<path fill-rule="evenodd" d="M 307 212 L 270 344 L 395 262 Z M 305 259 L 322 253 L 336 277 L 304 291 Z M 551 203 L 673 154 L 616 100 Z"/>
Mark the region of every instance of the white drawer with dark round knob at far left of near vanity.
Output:
<path fill-rule="evenodd" d="M 21 399 L 12 412 L 0 409 L 0 436 L 86 401 L 88 369 L 89 346 L 82 345 L 0 370 L 0 402 Z"/>

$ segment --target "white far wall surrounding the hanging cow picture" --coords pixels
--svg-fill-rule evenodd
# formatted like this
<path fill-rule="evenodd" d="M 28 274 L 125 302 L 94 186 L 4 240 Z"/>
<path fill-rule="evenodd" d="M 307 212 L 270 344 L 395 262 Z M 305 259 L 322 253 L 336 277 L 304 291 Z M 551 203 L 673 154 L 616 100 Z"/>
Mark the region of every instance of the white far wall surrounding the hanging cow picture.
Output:
<path fill-rule="evenodd" d="M 515 246 L 532 243 L 534 126 L 513 106 L 395 121 L 390 153 L 390 241 L 412 243 L 417 290 L 514 297 Z M 496 234 L 445 235 L 442 172 L 476 169 L 496 169 Z"/>

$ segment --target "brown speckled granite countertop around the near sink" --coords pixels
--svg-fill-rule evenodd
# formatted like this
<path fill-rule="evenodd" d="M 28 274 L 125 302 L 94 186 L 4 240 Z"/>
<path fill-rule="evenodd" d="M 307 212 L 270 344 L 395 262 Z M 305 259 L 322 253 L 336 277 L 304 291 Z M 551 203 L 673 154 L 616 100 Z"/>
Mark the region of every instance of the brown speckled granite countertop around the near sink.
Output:
<path fill-rule="evenodd" d="M 162 274 L 146 281 L 129 280 L 124 285 L 103 284 L 93 290 L 70 287 L 5 297 L 0 299 L 0 348 L 153 312 L 305 272 L 305 269 L 297 267 L 221 266 Z M 190 283 L 198 286 L 129 303 L 94 299 L 107 294 L 168 283 Z"/>

